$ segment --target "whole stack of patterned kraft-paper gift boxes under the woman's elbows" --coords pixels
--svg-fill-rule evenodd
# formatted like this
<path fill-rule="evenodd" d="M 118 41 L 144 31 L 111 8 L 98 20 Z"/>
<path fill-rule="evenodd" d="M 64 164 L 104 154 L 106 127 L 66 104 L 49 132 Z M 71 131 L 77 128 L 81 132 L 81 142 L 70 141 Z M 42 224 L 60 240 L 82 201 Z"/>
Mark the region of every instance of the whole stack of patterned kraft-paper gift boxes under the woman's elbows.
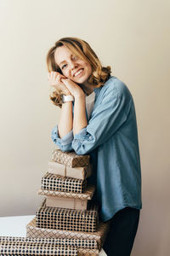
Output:
<path fill-rule="evenodd" d="M 38 195 L 45 198 L 26 225 L 26 237 L 0 237 L 1 255 L 99 255 L 109 222 L 99 221 L 92 201 L 89 155 L 55 149 Z"/>

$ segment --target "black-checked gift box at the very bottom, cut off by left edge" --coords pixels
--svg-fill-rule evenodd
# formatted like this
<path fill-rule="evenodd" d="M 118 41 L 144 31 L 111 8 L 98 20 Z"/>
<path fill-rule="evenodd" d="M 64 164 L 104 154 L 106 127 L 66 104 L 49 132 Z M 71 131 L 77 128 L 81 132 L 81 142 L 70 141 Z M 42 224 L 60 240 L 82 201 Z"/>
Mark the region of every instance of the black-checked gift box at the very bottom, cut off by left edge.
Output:
<path fill-rule="evenodd" d="M 0 236 L 0 255 L 97 256 L 99 250 L 96 247 L 96 241 L 85 239 Z"/>

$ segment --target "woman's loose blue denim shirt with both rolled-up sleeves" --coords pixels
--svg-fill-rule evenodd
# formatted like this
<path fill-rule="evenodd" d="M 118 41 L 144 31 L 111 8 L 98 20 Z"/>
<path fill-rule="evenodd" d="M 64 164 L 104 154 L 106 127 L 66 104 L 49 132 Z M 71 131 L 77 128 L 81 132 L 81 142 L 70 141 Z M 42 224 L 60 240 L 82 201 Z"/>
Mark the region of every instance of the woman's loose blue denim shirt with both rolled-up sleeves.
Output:
<path fill-rule="evenodd" d="M 142 208 L 139 141 L 133 97 L 127 85 L 111 76 L 94 92 L 88 125 L 75 136 L 71 130 L 62 138 L 56 125 L 52 139 L 62 151 L 90 155 L 94 168 L 88 183 L 96 185 L 94 199 L 105 222 L 124 207 Z"/>

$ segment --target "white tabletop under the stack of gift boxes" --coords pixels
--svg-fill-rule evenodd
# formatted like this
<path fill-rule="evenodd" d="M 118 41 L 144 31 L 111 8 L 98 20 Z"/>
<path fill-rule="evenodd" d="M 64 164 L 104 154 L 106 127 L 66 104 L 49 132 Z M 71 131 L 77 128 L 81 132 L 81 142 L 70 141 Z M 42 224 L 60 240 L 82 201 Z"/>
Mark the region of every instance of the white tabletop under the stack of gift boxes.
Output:
<path fill-rule="evenodd" d="M 35 215 L 1 217 L 0 218 L 0 236 L 22 236 L 26 237 L 26 224 L 28 224 Z M 99 256 L 107 256 L 102 249 Z"/>

